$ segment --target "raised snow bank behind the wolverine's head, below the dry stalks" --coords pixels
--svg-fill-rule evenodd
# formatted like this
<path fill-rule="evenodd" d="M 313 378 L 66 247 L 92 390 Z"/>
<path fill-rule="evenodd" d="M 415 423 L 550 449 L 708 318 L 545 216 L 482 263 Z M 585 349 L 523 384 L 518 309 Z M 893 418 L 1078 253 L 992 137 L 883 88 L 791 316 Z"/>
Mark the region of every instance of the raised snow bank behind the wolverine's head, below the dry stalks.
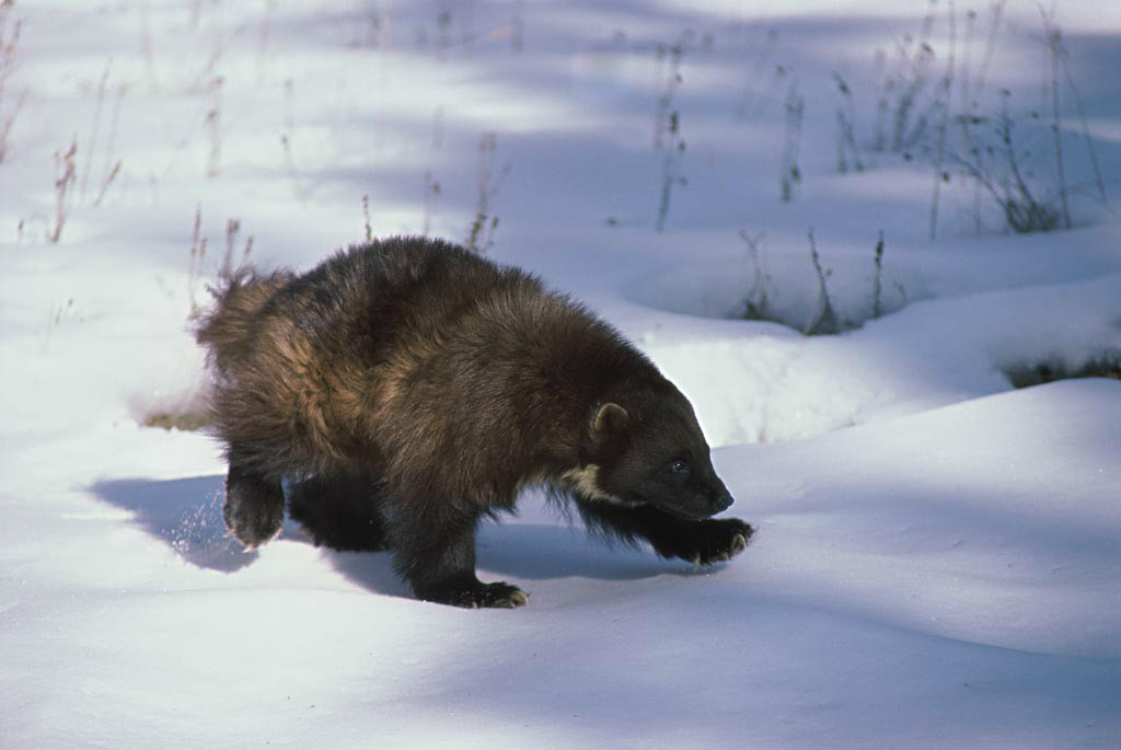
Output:
<path fill-rule="evenodd" d="M 678 318 L 639 340 L 711 442 L 789 441 L 1008 390 L 1040 362 L 1115 359 L 1119 289 L 1112 275 L 936 297 L 840 336 Z"/>

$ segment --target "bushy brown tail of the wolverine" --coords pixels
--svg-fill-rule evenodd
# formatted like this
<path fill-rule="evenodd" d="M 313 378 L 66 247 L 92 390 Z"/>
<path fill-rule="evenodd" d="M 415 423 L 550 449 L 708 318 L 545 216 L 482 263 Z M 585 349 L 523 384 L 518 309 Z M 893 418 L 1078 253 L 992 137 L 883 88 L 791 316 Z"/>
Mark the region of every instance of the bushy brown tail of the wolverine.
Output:
<path fill-rule="evenodd" d="M 211 287 L 214 307 L 200 316 L 195 340 L 206 348 L 206 361 L 212 368 L 226 372 L 245 352 L 258 313 L 293 278 L 289 271 L 261 276 L 252 268 L 241 268 L 217 287 Z"/>

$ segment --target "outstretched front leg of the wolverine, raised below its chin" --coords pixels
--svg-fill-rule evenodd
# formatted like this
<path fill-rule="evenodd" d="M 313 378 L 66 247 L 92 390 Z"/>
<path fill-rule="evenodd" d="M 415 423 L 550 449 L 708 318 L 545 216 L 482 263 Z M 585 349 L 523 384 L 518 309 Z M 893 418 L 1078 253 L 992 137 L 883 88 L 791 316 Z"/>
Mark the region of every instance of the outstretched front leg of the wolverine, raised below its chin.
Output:
<path fill-rule="evenodd" d="M 576 496 L 576 507 L 590 528 L 623 541 L 649 541 L 663 557 L 711 565 L 743 552 L 756 530 L 738 518 L 688 520 L 650 506 L 620 506 Z"/>

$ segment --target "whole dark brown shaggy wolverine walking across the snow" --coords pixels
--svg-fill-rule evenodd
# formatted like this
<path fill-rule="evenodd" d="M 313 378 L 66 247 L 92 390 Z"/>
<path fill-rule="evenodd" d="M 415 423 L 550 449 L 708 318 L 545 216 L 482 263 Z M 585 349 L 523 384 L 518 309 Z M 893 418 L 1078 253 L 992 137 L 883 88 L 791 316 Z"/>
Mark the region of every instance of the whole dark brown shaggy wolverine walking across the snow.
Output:
<path fill-rule="evenodd" d="M 541 485 L 593 531 L 700 565 L 754 529 L 693 407 L 619 332 L 540 280 L 441 240 L 398 237 L 304 275 L 243 268 L 198 342 L 248 548 L 291 516 L 348 549 L 389 549 L 417 598 L 518 607 L 475 575 L 480 520 Z M 287 488 L 287 493 L 286 493 Z"/>

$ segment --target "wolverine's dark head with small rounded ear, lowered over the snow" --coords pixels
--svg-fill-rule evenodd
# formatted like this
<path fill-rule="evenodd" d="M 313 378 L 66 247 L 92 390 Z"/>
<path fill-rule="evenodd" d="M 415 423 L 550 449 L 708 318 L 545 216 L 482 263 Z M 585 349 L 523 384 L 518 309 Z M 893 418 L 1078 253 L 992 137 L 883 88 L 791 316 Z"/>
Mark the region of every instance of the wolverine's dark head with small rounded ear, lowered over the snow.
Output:
<path fill-rule="evenodd" d="M 693 407 L 668 382 L 596 405 L 589 438 L 589 461 L 569 479 L 591 499 L 649 504 L 687 519 L 732 504 Z"/>

